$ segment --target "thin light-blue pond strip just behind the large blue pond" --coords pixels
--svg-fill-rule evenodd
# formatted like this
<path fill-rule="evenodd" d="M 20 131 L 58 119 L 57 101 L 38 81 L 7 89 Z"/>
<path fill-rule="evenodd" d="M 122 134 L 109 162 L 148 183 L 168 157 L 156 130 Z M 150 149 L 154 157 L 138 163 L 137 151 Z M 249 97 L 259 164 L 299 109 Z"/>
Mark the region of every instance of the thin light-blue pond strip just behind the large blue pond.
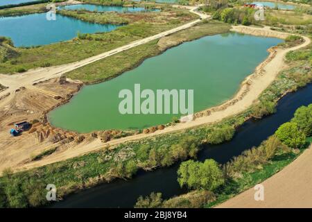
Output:
<path fill-rule="evenodd" d="M 144 11 L 159 11 L 157 9 L 146 9 L 142 7 L 122 7 L 122 6 L 98 6 L 93 4 L 78 4 L 71 6 L 60 6 L 59 9 L 78 10 L 85 9 L 98 12 L 144 12 Z"/>

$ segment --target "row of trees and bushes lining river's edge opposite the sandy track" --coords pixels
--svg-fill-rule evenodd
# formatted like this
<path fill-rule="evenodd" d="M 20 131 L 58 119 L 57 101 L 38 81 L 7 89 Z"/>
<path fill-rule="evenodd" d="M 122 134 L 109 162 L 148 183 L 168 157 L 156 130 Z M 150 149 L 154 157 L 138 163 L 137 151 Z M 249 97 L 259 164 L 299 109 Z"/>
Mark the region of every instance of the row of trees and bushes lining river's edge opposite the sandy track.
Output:
<path fill-rule="evenodd" d="M 229 128 L 225 128 L 227 134 Z M 312 136 L 312 104 L 298 108 L 290 122 L 282 124 L 275 135 L 269 137 L 259 147 L 245 151 L 239 157 L 223 166 L 224 171 L 214 160 L 182 162 L 177 171 L 181 187 L 188 189 L 205 189 L 214 191 L 225 183 L 226 178 L 234 177 L 241 172 L 254 171 L 260 164 L 266 164 L 279 151 L 290 151 L 290 148 L 302 148 L 306 137 Z M 290 148 L 289 148 L 290 147 Z"/>

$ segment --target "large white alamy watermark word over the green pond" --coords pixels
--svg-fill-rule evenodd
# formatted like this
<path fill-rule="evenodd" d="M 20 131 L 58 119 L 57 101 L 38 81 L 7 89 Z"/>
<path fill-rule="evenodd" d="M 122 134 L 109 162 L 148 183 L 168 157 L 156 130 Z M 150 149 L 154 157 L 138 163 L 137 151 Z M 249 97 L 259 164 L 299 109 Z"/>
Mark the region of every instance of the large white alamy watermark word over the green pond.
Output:
<path fill-rule="evenodd" d="M 133 90 L 119 92 L 121 114 L 182 114 L 191 119 L 193 115 L 193 89 L 152 89 L 141 90 L 135 84 Z"/>

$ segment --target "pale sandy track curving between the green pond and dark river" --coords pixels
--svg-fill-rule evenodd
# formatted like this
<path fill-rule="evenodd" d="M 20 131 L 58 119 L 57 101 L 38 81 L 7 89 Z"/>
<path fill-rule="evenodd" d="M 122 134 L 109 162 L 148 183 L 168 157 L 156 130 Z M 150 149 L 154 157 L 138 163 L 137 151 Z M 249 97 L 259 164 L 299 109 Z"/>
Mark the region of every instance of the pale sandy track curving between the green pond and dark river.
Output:
<path fill-rule="evenodd" d="M 279 33 L 277 31 L 270 31 L 270 28 L 268 27 L 254 28 L 254 27 L 245 27 L 245 26 L 234 26 L 233 31 L 242 32 L 242 33 L 250 33 L 253 35 L 286 37 L 285 33 Z M 252 78 L 252 84 L 250 85 L 250 90 L 248 91 L 248 93 L 245 94 L 243 98 L 239 100 L 237 103 L 234 103 L 234 105 L 230 105 L 225 110 L 211 112 L 209 116 L 199 117 L 199 118 L 196 118 L 194 121 L 190 121 L 186 123 L 178 123 L 175 126 L 169 126 L 165 128 L 164 130 L 157 130 L 155 133 L 132 135 L 129 137 L 114 139 L 105 144 L 101 143 L 99 139 L 96 139 L 93 142 L 88 143 L 88 144 L 79 144 L 75 148 L 68 149 L 67 151 L 64 151 L 62 153 L 55 153 L 49 157 L 44 158 L 43 160 L 30 162 L 24 165 L 23 169 L 31 169 L 34 167 L 40 167 L 46 164 L 51 164 L 53 162 L 67 160 L 71 157 L 76 157 L 78 155 L 84 155 L 85 153 L 89 153 L 91 151 L 96 151 L 100 148 L 103 148 L 106 145 L 113 146 L 113 145 L 121 144 L 124 142 L 137 140 L 137 139 L 143 139 L 146 137 L 152 137 L 152 136 L 160 135 L 164 133 L 173 133 L 177 130 L 183 130 L 183 129 L 192 128 L 195 126 L 201 126 L 207 123 L 214 123 L 216 121 L 220 121 L 224 119 L 225 117 L 231 117 L 235 114 L 239 114 L 243 112 L 244 110 L 246 110 L 247 108 L 249 108 L 250 105 L 252 105 L 252 103 L 254 102 L 254 100 L 258 98 L 261 92 L 263 92 L 263 90 L 266 89 L 270 85 L 270 83 L 272 83 L 273 80 L 275 80 L 277 74 L 279 74 L 279 71 L 281 71 L 282 69 L 286 67 L 284 63 L 284 56 L 286 55 L 286 53 L 288 53 L 288 51 L 300 49 L 304 46 L 307 46 L 310 43 L 311 43 L 311 40 L 308 37 L 304 37 L 304 42 L 300 44 L 299 46 L 293 46 L 289 49 L 277 49 L 275 56 L 273 58 L 270 58 L 270 62 L 264 61 L 263 65 L 259 65 L 259 67 L 262 67 L 261 75 L 254 76 L 254 78 L 252 78 L 252 75 L 251 75 L 247 78 L 247 80 Z M 245 87 L 246 85 L 242 83 L 241 89 L 236 94 L 236 96 L 234 96 L 232 100 L 239 98 L 245 91 Z M 21 170 L 22 168 L 15 167 L 15 169 Z"/>

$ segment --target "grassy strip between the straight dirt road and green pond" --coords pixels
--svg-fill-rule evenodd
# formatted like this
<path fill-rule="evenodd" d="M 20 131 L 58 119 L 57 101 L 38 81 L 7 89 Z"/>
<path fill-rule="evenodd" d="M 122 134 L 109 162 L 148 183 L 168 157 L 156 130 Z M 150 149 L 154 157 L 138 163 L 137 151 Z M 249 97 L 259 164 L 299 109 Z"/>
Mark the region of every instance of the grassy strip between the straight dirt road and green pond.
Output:
<path fill-rule="evenodd" d="M 114 56 L 81 67 L 66 74 L 68 78 L 83 80 L 85 83 L 96 83 L 122 74 L 124 71 L 137 67 L 148 57 L 157 56 L 168 47 L 176 46 L 182 42 L 195 40 L 205 35 L 215 35 L 229 31 L 229 26 L 220 22 L 209 22 L 180 31 L 166 37 L 162 44 L 159 40 L 154 40 L 142 44 L 127 51 L 123 51 Z"/>

